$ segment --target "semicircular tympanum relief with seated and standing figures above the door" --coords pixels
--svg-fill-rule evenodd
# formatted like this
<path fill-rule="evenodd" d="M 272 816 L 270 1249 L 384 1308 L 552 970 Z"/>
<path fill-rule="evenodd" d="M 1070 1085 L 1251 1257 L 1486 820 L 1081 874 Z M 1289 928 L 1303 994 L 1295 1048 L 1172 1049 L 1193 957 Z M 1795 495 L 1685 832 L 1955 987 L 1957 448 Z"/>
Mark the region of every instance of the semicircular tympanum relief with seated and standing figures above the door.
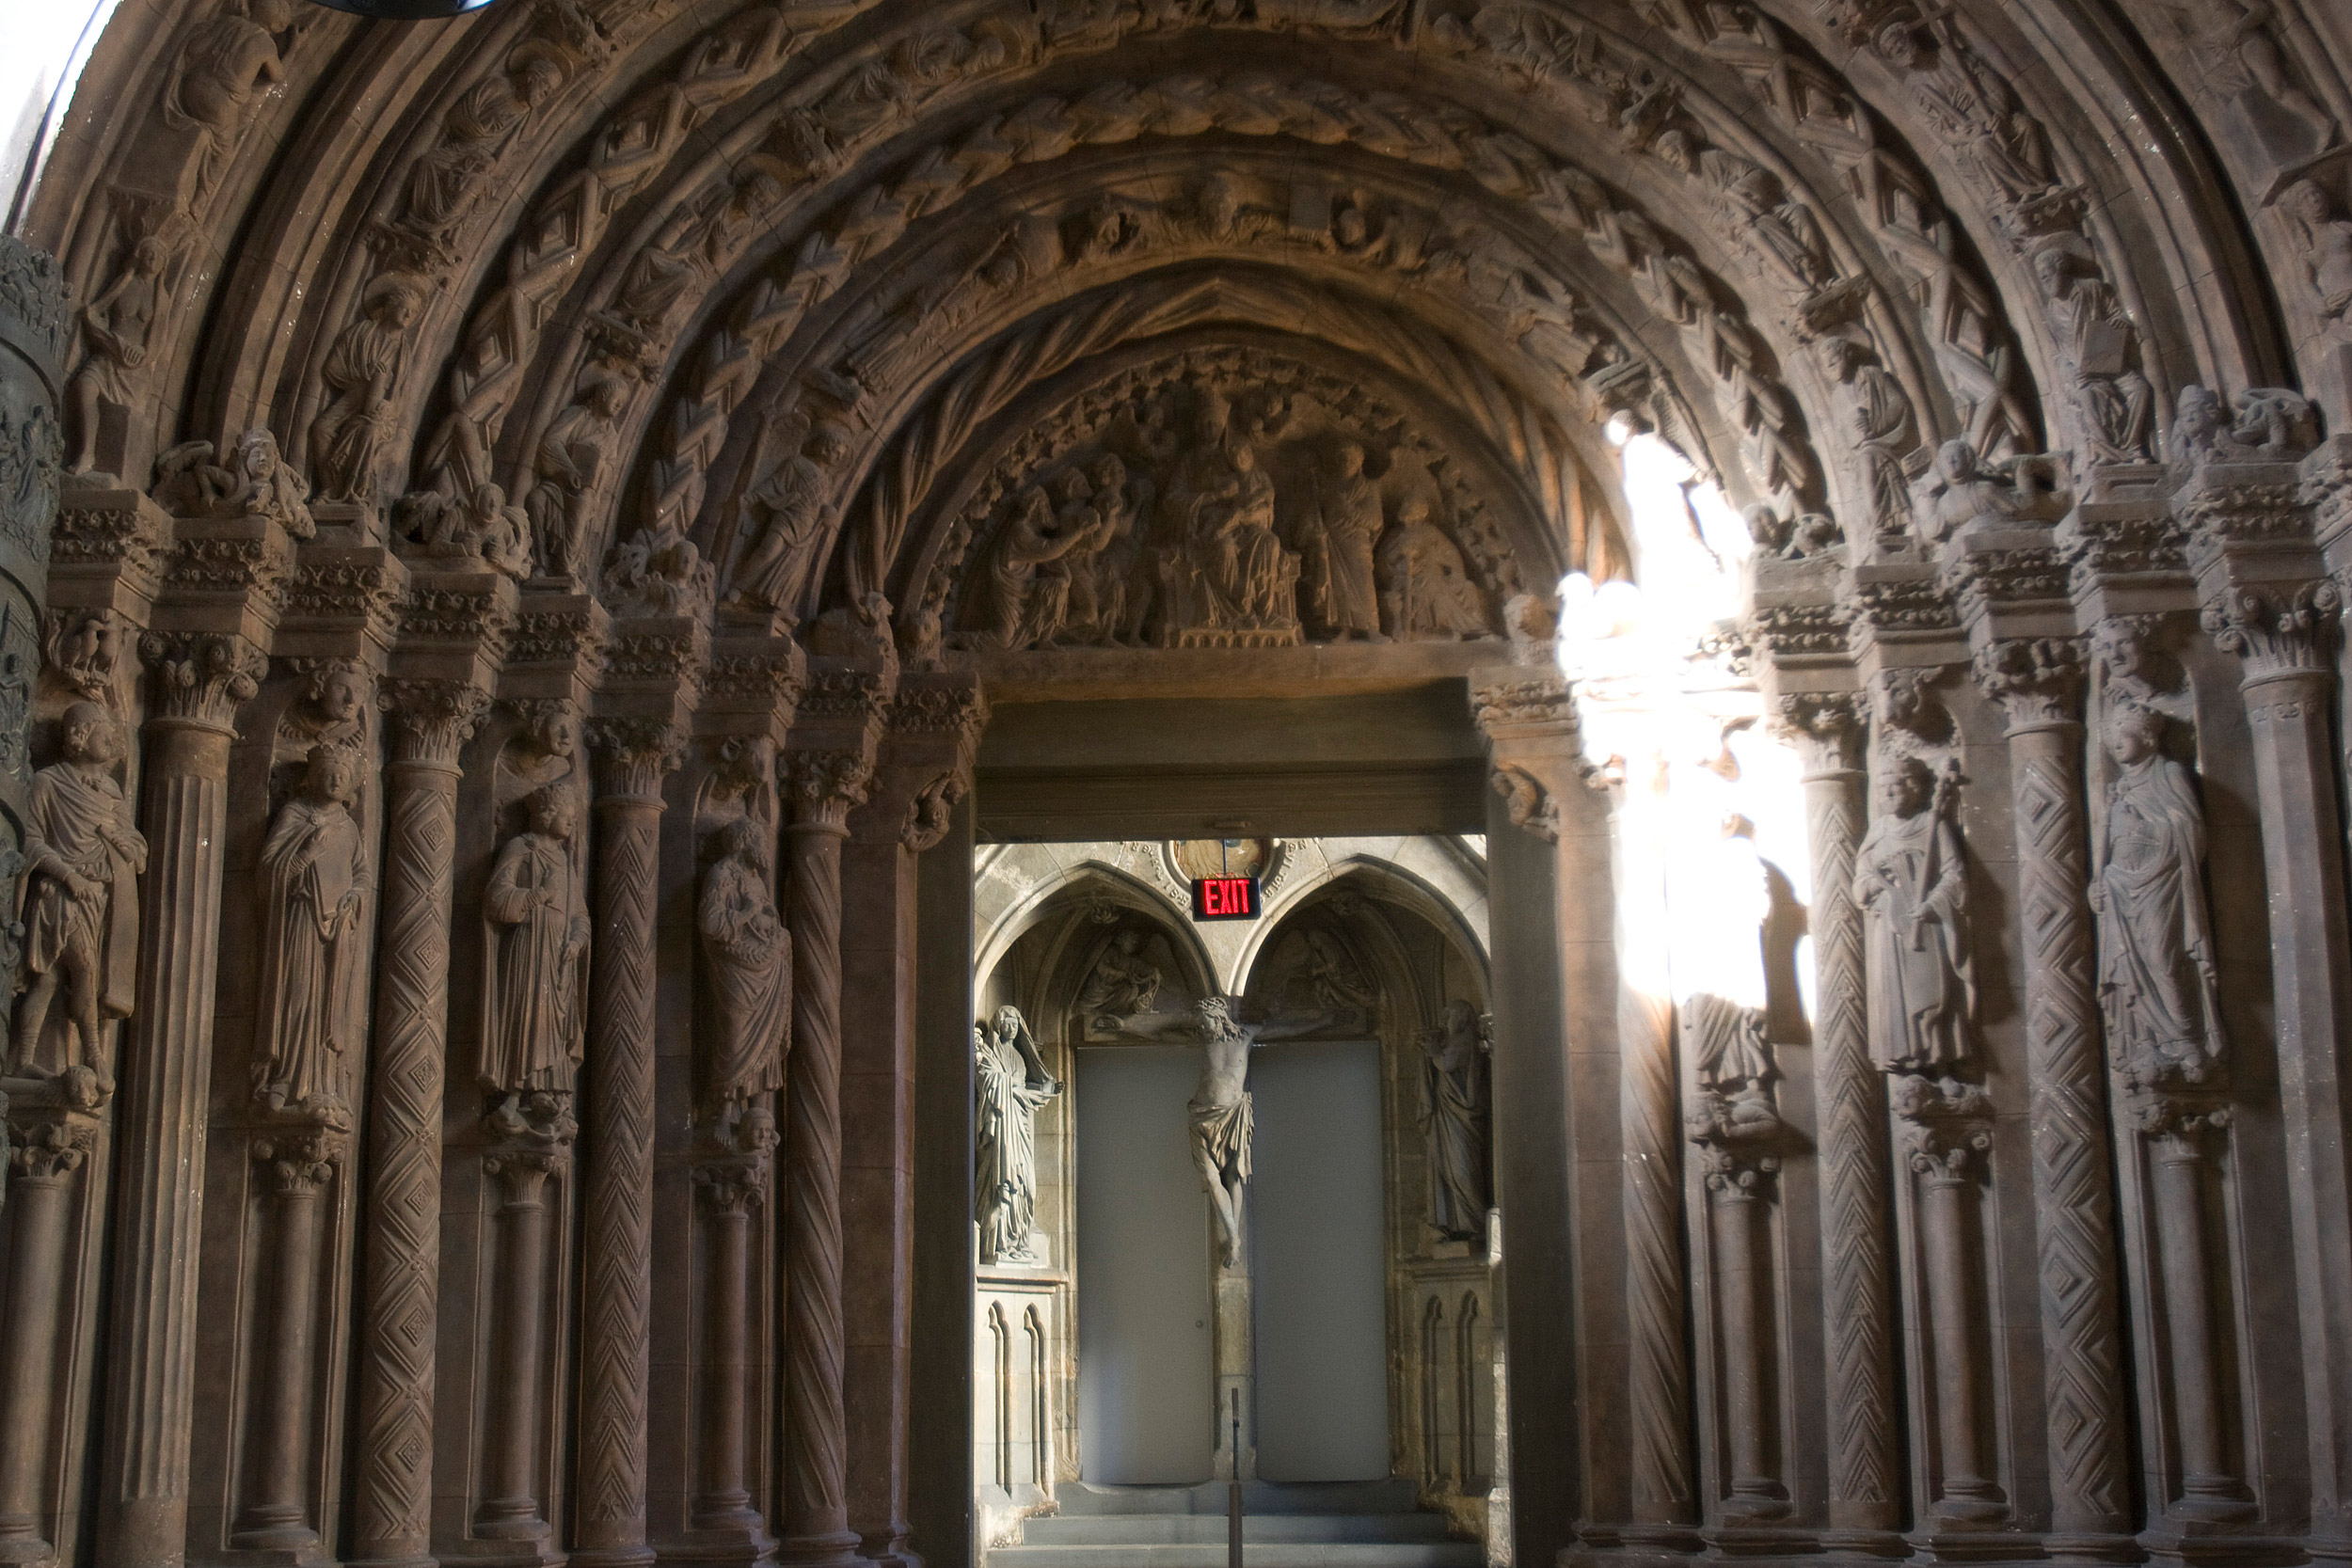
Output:
<path fill-rule="evenodd" d="M 1461 463 L 1338 378 L 1207 353 L 1120 376 L 1009 451 L 934 571 L 950 644 L 1498 637 L 1515 578 Z"/>

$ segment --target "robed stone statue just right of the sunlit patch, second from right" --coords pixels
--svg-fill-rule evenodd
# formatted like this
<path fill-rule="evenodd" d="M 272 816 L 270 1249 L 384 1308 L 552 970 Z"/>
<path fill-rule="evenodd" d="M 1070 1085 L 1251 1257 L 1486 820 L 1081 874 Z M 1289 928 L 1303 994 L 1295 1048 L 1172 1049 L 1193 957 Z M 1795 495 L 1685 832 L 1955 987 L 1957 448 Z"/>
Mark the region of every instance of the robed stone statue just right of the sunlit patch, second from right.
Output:
<path fill-rule="evenodd" d="M 1938 788 L 1919 757 L 1898 757 L 1879 773 L 1877 806 L 1853 858 L 1870 1056 L 1889 1072 L 1950 1077 L 1976 1048 L 1969 867 L 1952 788 Z"/>

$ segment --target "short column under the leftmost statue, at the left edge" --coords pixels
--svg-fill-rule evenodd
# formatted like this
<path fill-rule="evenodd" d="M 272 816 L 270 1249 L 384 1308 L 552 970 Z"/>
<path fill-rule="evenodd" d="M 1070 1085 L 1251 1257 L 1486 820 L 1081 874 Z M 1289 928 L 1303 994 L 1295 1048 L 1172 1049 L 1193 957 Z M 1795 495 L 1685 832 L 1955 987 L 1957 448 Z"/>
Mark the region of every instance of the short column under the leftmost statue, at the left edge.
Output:
<path fill-rule="evenodd" d="M 49 1458 L 49 1389 L 56 1387 L 56 1319 L 66 1298 L 66 1213 L 73 1173 L 96 1131 L 56 1119 L 9 1128 L 9 1208 L 14 1239 L 7 1253 L 7 1295 L 0 1298 L 0 1563 L 40 1563 L 52 1556 L 42 1535 L 42 1476 Z"/>

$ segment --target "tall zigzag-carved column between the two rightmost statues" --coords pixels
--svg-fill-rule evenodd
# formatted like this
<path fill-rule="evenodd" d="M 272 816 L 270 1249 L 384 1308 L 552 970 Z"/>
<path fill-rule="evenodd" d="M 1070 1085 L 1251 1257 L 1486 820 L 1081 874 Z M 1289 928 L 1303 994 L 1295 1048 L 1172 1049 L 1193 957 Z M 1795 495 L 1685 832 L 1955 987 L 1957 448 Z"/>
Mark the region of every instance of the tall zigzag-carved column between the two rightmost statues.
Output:
<path fill-rule="evenodd" d="M 1983 661 L 2009 710 L 2009 780 L 2025 936 L 2025 1072 L 2032 1100 L 2042 1392 L 2058 1556 L 2129 1552 L 2124 1345 L 2114 1279 L 2107 1065 L 2091 980 L 2089 856 L 2072 644 Z"/>

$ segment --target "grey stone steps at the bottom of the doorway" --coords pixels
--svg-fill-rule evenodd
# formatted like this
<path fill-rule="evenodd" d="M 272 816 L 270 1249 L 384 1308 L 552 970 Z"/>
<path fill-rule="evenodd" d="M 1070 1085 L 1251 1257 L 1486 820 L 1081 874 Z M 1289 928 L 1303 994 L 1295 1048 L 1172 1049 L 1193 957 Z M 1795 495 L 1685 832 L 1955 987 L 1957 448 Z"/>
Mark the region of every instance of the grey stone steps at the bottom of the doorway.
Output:
<path fill-rule="evenodd" d="M 990 1568 L 1223 1568 L 1225 1486 L 1063 1486 Z M 1414 1507 L 1404 1481 L 1244 1488 L 1249 1568 L 1479 1568 L 1486 1552 Z"/>

